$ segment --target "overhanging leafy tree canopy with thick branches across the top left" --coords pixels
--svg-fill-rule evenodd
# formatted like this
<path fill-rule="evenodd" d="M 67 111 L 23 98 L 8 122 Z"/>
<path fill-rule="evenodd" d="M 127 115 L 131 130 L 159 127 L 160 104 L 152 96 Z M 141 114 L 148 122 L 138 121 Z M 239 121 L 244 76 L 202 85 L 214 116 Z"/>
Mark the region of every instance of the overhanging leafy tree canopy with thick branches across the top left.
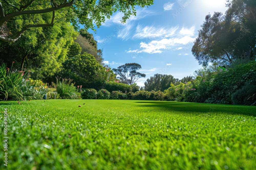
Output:
<path fill-rule="evenodd" d="M 3 3 L 3 4 L 2 4 Z M 153 0 L 2 0 L 0 2 L 0 40 L 5 42 L 17 41 L 25 31 L 31 28 L 52 27 L 60 20 L 71 22 L 78 28 L 79 24 L 86 29 L 97 27 L 120 11 L 123 13 L 122 22 L 131 15 L 136 15 L 135 6 L 145 7 L 153 4 Z M 47 22 L 36 20 L 37 15 L 50 15 Z M 31 22 L 24 22 L 23 16 L 29 16 Z M 12 21 L 19 19 L 17 25 Z M 8 33 L 9 28 L 17 27 L 13 34 Z"/>

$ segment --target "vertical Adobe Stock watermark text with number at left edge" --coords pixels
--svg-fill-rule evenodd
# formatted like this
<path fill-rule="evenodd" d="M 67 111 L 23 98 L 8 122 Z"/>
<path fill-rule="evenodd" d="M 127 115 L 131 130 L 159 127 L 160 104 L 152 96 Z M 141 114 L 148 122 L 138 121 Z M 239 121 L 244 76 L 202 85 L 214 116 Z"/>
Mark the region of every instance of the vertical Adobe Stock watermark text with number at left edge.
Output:
<path fill-rule="evenodd" d="M 4 108 L 4 166 L 8 166 L 8 113 L 7 108 Z"/>

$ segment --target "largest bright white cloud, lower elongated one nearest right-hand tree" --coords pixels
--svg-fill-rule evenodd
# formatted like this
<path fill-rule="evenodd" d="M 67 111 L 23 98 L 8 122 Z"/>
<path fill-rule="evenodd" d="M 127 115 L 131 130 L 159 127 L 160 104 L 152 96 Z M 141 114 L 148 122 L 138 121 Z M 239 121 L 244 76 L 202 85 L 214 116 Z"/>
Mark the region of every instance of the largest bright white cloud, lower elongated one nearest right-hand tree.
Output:
<path fill-rule="evenodd" d="M 175 45 L 186 45 L 188 43 L 193 43 L 196 38 L 192 38 L 190 36 L 184 36 L 180 38 L 164 38 L 160 41 L 151 41 L 150 43 L 141 42 L 140 48 L 142 50 L 137 53 L 162 53 L 164 49 L 170 49 Z"/>

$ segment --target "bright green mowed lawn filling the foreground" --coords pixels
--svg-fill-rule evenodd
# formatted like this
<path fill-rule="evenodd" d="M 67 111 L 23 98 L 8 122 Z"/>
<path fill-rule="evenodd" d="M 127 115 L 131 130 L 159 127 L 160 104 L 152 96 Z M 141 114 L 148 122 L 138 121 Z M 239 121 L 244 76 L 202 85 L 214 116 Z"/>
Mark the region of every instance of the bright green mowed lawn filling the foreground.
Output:
<path fill-rule="evenodd" d="M 2 141 L 4 108 L 9 113 L 8 169 L 256 169 L 256 107 L 136 100 L 0 102 Z M 6 169 L 3 154 L 1 145 L 0 169 Z"/>

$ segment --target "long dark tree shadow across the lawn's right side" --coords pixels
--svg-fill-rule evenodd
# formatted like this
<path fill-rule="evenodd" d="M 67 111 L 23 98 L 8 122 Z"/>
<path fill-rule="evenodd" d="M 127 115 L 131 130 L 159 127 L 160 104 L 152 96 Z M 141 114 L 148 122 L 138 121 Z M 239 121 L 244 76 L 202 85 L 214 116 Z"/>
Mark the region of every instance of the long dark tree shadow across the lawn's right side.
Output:
<path fill-rule="evenodd" d="M 255 106 L 238 106 L 224 104 L 208 104 L 208 103 L 189 103 L 189 102 L 169 102 L 169 101 L 136 101 L 138 107 L 156 107 L 169 111 L 180 112 L 217 112 L 230 114 L 256 115 Z"/>

